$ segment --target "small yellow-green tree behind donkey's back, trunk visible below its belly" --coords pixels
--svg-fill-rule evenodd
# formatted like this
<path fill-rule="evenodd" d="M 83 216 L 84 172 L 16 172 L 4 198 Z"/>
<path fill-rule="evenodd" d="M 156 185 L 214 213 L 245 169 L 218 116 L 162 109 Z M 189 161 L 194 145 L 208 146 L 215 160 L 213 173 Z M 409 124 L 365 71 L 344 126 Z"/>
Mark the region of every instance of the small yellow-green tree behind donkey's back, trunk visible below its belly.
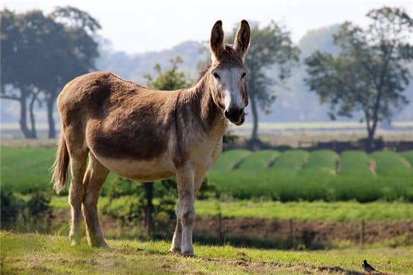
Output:
<path fill-rule="evenodd" d="M 163 72 L 159 63 L 153 67 L 158 73 L 156 78 L 153 78 L 150 74 L 145 74 L 144 78 L 147 79 L 147 86 L 149 88 L 171 91 L 187 88 L 191 85 L 191 80 L 188 80 L 184 72 L 180 72 L 178 69 L 178 65 L 182 63 L 182 58 L 176 56 L 176 58 L 172 58 L 170 62 L 172 65 L 171 69 L 165 69 Z M 169 180 L 162 181 L 162 184 L 171 186 Z M 153 232 L 153 182 L 145 182 L 143 183 L 143 186 L 145 188 L 145 197 L 147 201 L 145 224 L 148 228 L 148 235 L 151 236 Z"/>

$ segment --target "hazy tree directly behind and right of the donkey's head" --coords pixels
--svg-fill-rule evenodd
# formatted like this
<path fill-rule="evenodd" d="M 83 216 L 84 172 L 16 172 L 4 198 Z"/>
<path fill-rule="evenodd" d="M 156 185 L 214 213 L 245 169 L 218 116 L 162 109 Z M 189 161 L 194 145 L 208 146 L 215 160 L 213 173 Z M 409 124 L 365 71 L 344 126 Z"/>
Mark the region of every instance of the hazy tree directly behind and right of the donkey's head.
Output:
<path fill-rule="evenodd" d="M 236 32 L 235 28 L 226 41 L 232 43 Z M 273 21 L 264 28 L 253 24 L 251 45 L 245 56 L 247 89 L 253 114 L 253 142 L 258 141 L 258 107 L 266 113 L 271 112 L 271 104 L 275 101 L 274 88 L 290 76 L 290 69 L 298 59 L 299 49 L 293 45 L 290 32 Z M 277 76 L 268 76 L 266 71 L 274 65 L 277 65 Z"/>

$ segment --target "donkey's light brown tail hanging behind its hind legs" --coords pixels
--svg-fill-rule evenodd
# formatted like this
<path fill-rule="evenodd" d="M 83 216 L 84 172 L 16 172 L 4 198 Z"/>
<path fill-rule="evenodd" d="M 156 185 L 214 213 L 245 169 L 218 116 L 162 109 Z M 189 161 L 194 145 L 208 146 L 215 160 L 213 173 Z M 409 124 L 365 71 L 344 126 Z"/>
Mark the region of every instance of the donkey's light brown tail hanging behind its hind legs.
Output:
<path fill-rule="evenodd" d="M 51 170 L 53 170 L 52 183 L 54 184 L 54 190 L 59 194 L 59 192 L 65 188 L 67 166 L 69 166 L 70 160 L 63 132 L 60 135 L 57 147 L 56 160 L 54 161 Z"/>

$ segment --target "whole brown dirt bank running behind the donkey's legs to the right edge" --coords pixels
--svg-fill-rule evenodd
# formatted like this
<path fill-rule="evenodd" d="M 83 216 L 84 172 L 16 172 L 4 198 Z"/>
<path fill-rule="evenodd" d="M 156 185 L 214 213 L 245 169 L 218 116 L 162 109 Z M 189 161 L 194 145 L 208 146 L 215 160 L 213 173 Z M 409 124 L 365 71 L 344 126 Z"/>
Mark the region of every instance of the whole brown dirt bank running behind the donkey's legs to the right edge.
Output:
<path fill-rule="evenodd" d="M 70 220 L 70 211 L 56 209 L 50 221 L 50 232 L 65 228 Z M 100 225 L 109 239 L 141 238 L 145 235 L 142 225 L 121 226 L 116 219 L 100 215 Z M 171 221 L 167 238 L 171 237 L 175 221 Z M 141 228 L 141 230 L 138 230 Z M 289 221 L 273 219 L 215 219 L 197 218 L 194 226 L 194 240 L 203 243 L 231 243 L 266 248 L 323 248 L 332 241 L 361 242 L 361 221 Z M 65 234 L 64 232 L 61 232 Z M 165 232 L 164 232 L 165 233 Z M 165 235 L 165 234 L 164 234 Z M 145 237 L 145 236 L 144 236 Z M 401 244 L 413 243 L 412 221 L 364 221 L 364 243 L 376 243 L 397 239 Z M 407 242 L 407 243 L 406 243 Z M 395 243 L 394 245 L 398 245 Z"/>

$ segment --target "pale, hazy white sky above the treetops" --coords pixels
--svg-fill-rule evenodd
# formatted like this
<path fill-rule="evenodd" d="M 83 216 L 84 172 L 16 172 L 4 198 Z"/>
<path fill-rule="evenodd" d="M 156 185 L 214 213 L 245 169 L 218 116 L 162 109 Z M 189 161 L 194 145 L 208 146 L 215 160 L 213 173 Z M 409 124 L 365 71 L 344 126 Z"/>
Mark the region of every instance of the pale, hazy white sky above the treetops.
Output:
<path fill-rule="evenodd" d="M 85 10 L 102 25 L 100 34 L 115 50 L 129 53 L 162 50 L 182 41 L 206 41 L 213 23 L 222 19 L 231 30 L 241 19 L 282 23 L 299 41 L 308 30 L 346 20 L 366 25 L 366 13 L 382 5 L 404 7 L 413 15 L 413 0 L 3 0 L 2 7 L 23 12 L 50 12 L 56 5 Z"/>

